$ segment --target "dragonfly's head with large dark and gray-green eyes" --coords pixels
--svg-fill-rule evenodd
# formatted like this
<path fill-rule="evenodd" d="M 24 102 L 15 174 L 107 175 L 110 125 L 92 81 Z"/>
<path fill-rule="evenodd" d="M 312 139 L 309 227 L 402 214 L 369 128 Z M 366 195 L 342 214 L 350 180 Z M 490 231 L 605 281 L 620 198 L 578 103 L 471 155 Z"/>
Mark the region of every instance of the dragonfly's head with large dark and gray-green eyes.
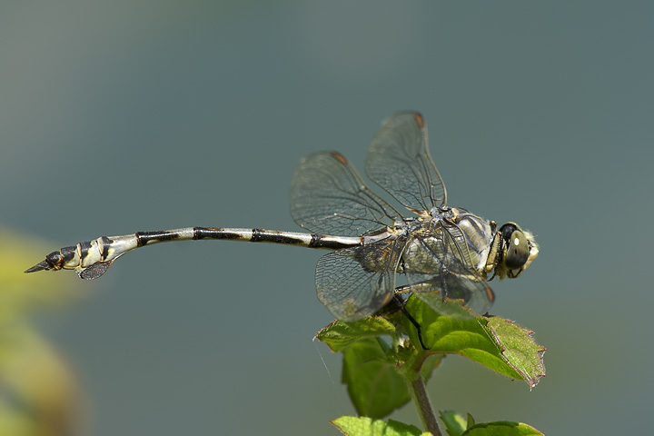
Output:
<path fill-rule="evenodd" d="M 539 246 L 534 236 L 520 229 L 516 223 L 506 223 L 500 227 L 500 247 L 495 273 L 503 279 L 518 277 L 536 259 Z"/>

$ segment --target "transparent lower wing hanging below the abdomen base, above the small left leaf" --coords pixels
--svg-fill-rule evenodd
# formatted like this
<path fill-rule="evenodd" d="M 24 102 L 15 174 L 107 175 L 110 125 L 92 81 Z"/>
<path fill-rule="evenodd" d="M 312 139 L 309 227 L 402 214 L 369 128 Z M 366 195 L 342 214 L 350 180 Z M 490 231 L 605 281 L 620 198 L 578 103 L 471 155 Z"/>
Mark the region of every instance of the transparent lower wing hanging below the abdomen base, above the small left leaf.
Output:
<path fill-rule="evenodd" d="M 343 321 L 379 311 L 393 295 L 401 245 L 386 239 L 325 254 L 316 266 L 318 299 Z"/>

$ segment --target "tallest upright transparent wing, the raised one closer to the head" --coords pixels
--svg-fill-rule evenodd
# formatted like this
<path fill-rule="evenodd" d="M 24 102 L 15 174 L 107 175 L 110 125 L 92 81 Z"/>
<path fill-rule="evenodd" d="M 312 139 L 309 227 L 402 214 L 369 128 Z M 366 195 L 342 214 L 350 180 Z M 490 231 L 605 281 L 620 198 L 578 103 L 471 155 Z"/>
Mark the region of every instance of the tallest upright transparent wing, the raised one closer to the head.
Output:
<path fill-rule="evenodd" d="M 415 112 L 391 115 L 372 139 L 368 177 L 411 210 L 445 205 L 447 193 L 427 148 L 427 126 Z"/>

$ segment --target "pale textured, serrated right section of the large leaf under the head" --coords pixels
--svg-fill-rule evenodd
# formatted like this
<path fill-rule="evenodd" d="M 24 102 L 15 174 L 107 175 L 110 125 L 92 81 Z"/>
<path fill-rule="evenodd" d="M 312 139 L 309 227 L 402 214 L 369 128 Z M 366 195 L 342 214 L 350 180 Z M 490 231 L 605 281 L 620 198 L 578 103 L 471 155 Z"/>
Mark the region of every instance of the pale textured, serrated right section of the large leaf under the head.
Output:
<path fill-rule="evenodd" d="M 536 386 L 540 377 L 545 376 L 545 347 L 534 341 L 531 336 L 533 332 L 515 322 L 497 317 L 490 318 L 487 327 L 500 344 L 504 359 L 529 383 L 530 388 Z"/>

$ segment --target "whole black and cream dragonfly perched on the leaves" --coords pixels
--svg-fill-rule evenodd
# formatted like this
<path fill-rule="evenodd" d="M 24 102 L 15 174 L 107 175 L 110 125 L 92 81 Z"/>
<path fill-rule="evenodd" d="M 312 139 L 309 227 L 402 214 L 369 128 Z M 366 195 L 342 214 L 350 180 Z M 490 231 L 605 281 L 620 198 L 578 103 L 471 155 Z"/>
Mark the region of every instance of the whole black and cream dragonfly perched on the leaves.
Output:
<path fill-rule="evenodd" d="M 393 114 L 372 139 L 365 171 L 397 208 L 374 193 L 342 154 L 304 157 L 291 183 L 295 223 L 311 233 L 258 228 L 186 227 L 102 236 L 48 254 L 25 272 L 74 270 L 93 280 L 116 259 L 154 243 L 231 240 L 330 250 L 318 261 L 318 299 L 342 321 L 379 312 L 393 296 L 412 292 L 434 310 L 451 302 L 474 314 L 495 300 L 489 281 L 516 278 L 539 253 L 517 223 L 486 221 L 447 205 L 447 191 L 427 144 L 421 114 Z M 398 208 L 405 209 L 401 213 Z M 398 285 L 397 275 L 406 284 Z M 490 274 L 490 278 L 489 278 Z M 449 305 L 450 304 L 450 305 Z"/>

